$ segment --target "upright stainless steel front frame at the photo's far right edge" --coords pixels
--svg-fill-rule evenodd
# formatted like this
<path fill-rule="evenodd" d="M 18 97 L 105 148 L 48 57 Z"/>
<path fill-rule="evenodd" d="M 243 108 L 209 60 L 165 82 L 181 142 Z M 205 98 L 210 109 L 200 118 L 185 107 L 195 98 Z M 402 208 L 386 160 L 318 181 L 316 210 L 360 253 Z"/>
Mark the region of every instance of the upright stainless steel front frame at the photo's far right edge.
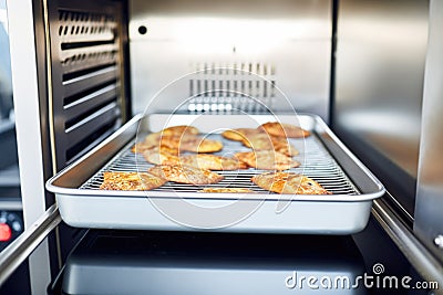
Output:
<path fill-rule="evenodd" d="M 434 239 L 443 233 L 443 3 L 431 1 L 414 232 L 443 263 Z"/>

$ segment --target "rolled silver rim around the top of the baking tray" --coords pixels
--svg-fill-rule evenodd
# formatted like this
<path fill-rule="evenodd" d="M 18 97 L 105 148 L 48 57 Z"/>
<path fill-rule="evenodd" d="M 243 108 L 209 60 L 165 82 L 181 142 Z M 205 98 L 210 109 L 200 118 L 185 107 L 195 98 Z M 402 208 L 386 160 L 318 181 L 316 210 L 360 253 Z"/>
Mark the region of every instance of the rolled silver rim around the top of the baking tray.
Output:
<path fill-rule="evenodd" d="M 166 115 L 166 114 L 152 114 L 152 115 Z M 184 114 L 184 116 L 186 116 Z M 210 115 L 209 115 L 210 116 Z M 220 116 L 220 115 L 214 115 Z M 269 116 L 269 115 L 254 115 L 254 116 Z M 285 114 L 279 114 L 278 116 L 286 116 Z M 293 116 L 287 115 L 287 116 Z M 71 171 L 72 169 L 76 168 L 79 165 L 83 164 L 87 158 L 95 156 L 97 151 L 105 148 L 106 145 L 117 140 L 122 137 L 125 133 L 128 133 L 131 128 L 134 128 L 134 125 L 137 126 L 138 129 L 138 122 L 145 116 L 142 114 L 135 115 L 131 120 L 124 124 L 121 128 L 119 128 L 115 133 L 109 136 L 105 140 L 99 144 L 95 148 L 91 151 L 59 171 L 56 175 L 51 177 L 45 182 L 45 188 L 48 191 L 53 192 L 59 196 L 76 196 L 76 197 L 107 197 L 107 198 L 171 198 L 171 199 L 188 199 L 188 200 L 256 200 L 256 201 L 319 201 L 319 202 L 360 202 L 360 201 L 368 201 L 380 198 L 384 194 L 385 189 L 383 185 L 375 178 L 375 176 L 346 147 L 343 143 L 332 133 L 329 126 L 318 116 L 307 113 L 297 114 L 299 117 L 308 117 L 315 122 L 315 127 L 318 126 L 321 128 L 321 131 L 326 134 L 334 145 L 337 145 L 349 159 L 358 166 L 361 172 L 368 177 L 372 183 L 377 187 L 377 190 L 373 192 L 363 192 L 361 194 L 278 194 L 278 193 L 204 193 L 198 192 L 177 192 L 177 191 L 105 191 L 105 190 L 96 190 L 96 189 L 79 189 L 79 188 L 68 188 L 54 185 L 55 181 L 60 181 L 66 172 Z M 109 161 L 116 155 L 122 151 L 122 148 L 126 146 L 131 140 L 135 138 L 135 134 L 128 140 L 120 145 L 117 150 L 114 150 L 113 155 L 106 159 Z M 321 135 L 319 134 L 319 138 L 321 139 Z M 331 157 L 333 157 L 332 152 Z M 337 159 L 336 159 L 337 160 Z M 340 166 L 340 161 L 337 160 L 338 165 Z M 352 181 L 352 179 L 351 179 Z M 352 181 L 354 183 L 354 181 Z M 356 183 L 354 183 L 356 185 Z M 356 185 L 357 186 L 357 185 Z M 239 198 L 240 197 L 240 198 Z"/>

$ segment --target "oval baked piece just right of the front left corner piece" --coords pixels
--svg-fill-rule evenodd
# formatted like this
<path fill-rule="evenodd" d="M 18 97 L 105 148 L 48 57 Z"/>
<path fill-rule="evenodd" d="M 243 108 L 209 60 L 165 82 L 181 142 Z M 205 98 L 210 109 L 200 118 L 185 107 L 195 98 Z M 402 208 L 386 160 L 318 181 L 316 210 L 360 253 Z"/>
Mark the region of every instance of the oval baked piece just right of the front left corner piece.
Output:
<path fill-rule="evenodd" d="M 165 178 L 169 181 L 189 185 L 210 185 L 223 180 L 223 176 L 210 170 L 198 169 L 184 165 L 154 166 L 148 169 L 150 173 Z"/>

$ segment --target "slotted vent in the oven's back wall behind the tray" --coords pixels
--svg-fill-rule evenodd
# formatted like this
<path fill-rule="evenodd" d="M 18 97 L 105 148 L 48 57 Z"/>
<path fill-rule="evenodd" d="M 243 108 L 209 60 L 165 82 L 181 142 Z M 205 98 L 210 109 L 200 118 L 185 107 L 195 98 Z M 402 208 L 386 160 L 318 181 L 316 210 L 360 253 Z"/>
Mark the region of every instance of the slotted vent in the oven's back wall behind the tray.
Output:
<path fill-rule="evenodd" d="M 189 78 L 189 112 L 267 113 L 276 98 L 276 66 L 262 62 L 197 63 Z"/>

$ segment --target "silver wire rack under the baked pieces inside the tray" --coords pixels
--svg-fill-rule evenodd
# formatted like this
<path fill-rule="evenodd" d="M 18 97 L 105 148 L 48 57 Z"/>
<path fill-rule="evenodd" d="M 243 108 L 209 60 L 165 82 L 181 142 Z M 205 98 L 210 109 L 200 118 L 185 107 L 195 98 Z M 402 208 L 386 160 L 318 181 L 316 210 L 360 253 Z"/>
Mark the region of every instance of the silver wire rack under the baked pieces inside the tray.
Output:
<path fill-rule="evenodd" d="M 216 155 L 234 155 L 238 151 L 249 151 L 250 149 L 245 148 L 237 141 L 224 139 L 219 135 L 210 135 L 207 138 L 223 140 L 224 148 L 222 151 L 216 152 Z M 351 180 L 346 176 L 343 170 L 340 168 L 338 162 L 330 156 L 324 146 L 318 139 L 317 135 L 312 135 L 305 139 L 290 139 L 293 146 L 303 145 L 303 150 L 300 155 L 296 156 L 295 159 L 299 160 L 302 165 L 297 168 L 292 168 L 289 171 L 297 173 L 302 173 L 307 177 L 312 178 L 319 182 L 323 188 L 334 194 L 359 194 L 360 192 Z M 109 164 L 106 164 L 103 169 L 97 171 L 90 180 L 87 180 L 81 189 L 99 189 L 100 185 L 103 182 L 104 171 L 145 171 L 153 167 L 152 164 L 146 162 L 143 155 L 134 154 L 131 151 L 131 143 L 126 146 L 116 157 L 114 157 Z M 235 171 L 217 171 L 225 178 L 215 185 L 209 185 L 206 187 L 236 187 L 236 188 L 248 188 L 256 192 L 267 192 L 266 190 L 259 188 L 250 181 L 250 178 L 266 172 L 266 170 L 257 169 L 243 169 Z M 198 191 L 200 187 L 168 182 L 161 188 L 155 189 L 156 191 L 184 191 L 184 192 L 195 192 Z"/>

